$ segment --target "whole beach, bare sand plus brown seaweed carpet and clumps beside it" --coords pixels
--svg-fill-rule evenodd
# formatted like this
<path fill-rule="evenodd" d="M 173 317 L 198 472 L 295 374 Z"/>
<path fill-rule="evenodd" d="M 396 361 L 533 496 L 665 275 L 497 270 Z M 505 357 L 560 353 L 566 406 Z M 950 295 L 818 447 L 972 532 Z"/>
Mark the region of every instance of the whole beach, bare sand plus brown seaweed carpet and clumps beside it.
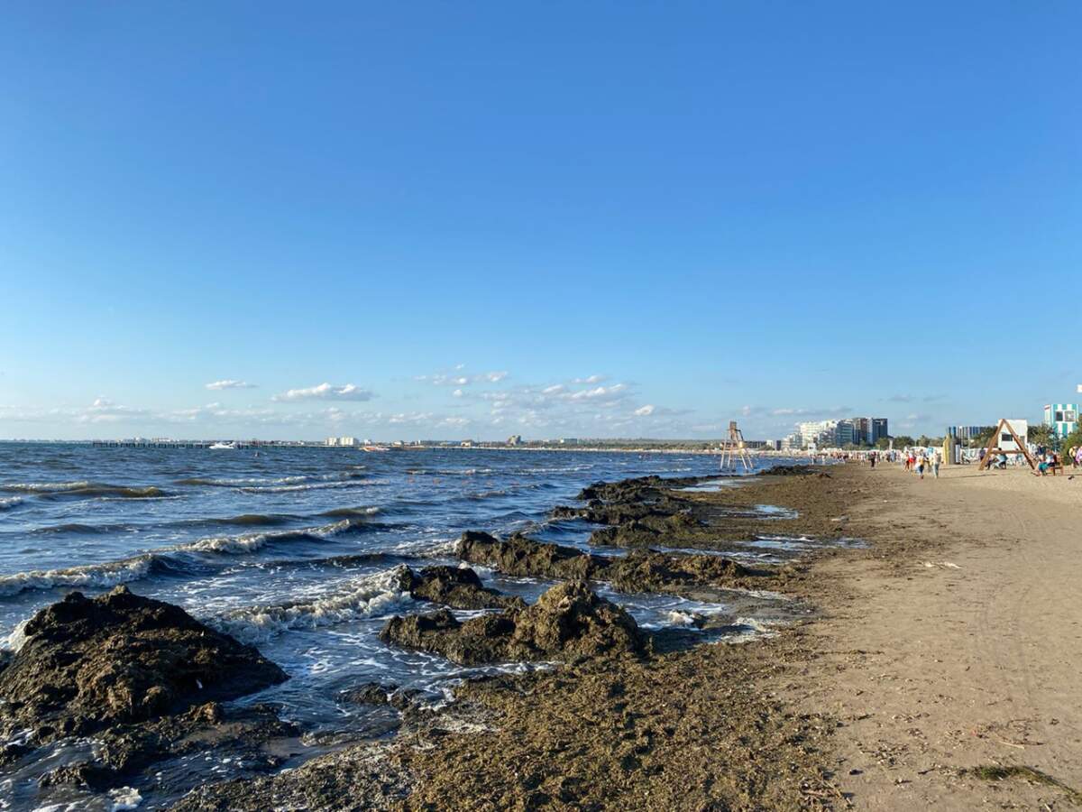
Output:
<path fill-rule="evenodd" d="M 685 487 L 713 479 L 599 483 L 575 506 L 553 506 L 554 516 L 597 527 L 585 550 L 615 545 L 623 558 L 465 534 L 460 567 L 407 571 L 404 589 L 437 606 L 503 606 L 506 619 L 461 624 L 444 608 L 443 625 L 430 628 L 422 607 L 387 624 L 388 642 L 452 662 L 519 652 L 551 660 L 546 667 L 466 681 L 435 705 L 394 686 L 356 685 L 355 702 L 386 704 L 397 716 L 386 733 L 343 741 L 291 770 L 204 783 L 175 808 L 967 810 L 1082 801 L 1082 612 L 1072 600 L 1082 578 L 1072 542 L 1082 486 L 1024 471 L 949 467 L 921 481 L 895 466 L 840 464 L 783 467 L 739 477 L 740 487 Z M 770 534 L 802 538 L 799 558 L 747 540 Z M 756 572 L 717 558 L 734 545 L 765 547 L 769 563 Z M 555 580 L 552 593 L 578 594 L 582 611 L 602 613 L 582 616 L 595 630 L 575 632 L 566 651 L 545 649 L 554 638 L 544 624 L 565 623 L 564 610 L 546 613 L 563 599 L 527 607 L 483 587 L 469 566 Z M 606 608 L 613 604 L 591 597 L 602 581 L 625 594 L 725 600 L 731 617 L 689 615 L 685 630 L 636 632 Z M 742 593 L 748 616 L 762 624 L 742 619 L 739 601 L 718 597 L 725 590 Z M 784 599 L 780 614 L 756 606 L 767 594 Z M 625 649 L 611 647 L 606 617 L 617 624 L 609 629 L 625 630 Z M 509 624 L 542 637 L 509 638 Z M 185 716 L 176 735 L 213 729 L 220 715 Z M 259 736 L 285 731 L 268 716 L 237 723 L 251 728 L 253 754 Z"/>

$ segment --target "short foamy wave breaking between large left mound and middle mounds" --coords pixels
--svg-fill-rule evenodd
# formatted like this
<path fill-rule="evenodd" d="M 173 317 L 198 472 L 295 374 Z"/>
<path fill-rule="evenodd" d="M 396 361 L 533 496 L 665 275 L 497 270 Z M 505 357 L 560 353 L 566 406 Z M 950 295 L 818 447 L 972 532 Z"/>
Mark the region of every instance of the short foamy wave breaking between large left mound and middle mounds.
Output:
<path fill-rule="evenodd" d="M 207 623 L 245 643 L 265 641 L 288 629 L 317 629 L 385 614 L 404 600 L 400 567 L 354 578 L 327 595 L 311 601 L 245 606 Z"/>

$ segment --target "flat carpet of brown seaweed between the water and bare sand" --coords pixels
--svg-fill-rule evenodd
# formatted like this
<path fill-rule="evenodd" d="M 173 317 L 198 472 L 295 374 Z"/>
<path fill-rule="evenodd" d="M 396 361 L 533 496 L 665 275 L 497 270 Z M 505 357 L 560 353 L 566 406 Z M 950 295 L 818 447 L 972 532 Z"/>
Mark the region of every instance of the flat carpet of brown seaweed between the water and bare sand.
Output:
<path fill-rule="evenodd" d="M 740 523 L 752 521 L 740 518 L 748 506 L 795 507 L 799 518 L 761 516 L 762 529 L 841 538 L 844 522 L 835 520 L 848 495 L 829 487 L 835 470 L 747 477 L 740 488 L 681 496 L 703 515 Z M 697 532 L 672 532 L 708 549 Z M 814 593 L 806 569 L 781 566 L 776 587 L 790 598 Z M 356 743 L 286 774 L 204 786 L 177 809 L 829 809 L 842 800 L 822 769 L 833 721 L 794 712 L 761 685 L 792 658 L 792 630 L 814 616 L 800 601 L 792 605 L 800 614 L 744 643 L 692 636 L 645 657 L 572 657 L 553 670 L 469 681 L 439 710 L 407 708 L 390 742 Z"/>

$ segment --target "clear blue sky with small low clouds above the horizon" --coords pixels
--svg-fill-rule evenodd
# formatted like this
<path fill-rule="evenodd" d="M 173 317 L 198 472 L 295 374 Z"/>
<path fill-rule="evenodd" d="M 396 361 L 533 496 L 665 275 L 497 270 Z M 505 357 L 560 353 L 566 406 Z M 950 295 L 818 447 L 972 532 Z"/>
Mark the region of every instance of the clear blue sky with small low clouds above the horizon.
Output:
<path fill-rule="evenodd" d="M 10 3 L 0 437 L 1038 419 L 1082 382 L 1080 25 Z"/>

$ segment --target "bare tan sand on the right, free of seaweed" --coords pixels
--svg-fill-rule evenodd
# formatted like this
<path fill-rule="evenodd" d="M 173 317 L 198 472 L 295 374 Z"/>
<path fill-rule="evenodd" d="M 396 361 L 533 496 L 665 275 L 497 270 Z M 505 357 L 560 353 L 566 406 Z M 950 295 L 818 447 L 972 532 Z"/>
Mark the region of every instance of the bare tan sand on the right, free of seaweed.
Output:
<path fill-rule="evenodd" d="M 1082 475 L 850 468 L 849 531 L 874 542 L 814 567 L 824 617 L 780 685 L 833 713 L 835 781 L 857 809 L 1061 809 L 1082 797 Z M 818 591 L 813 589 L 813 591 Z M 1030 778 L 1033 778 L 1030 775 Z"/>

